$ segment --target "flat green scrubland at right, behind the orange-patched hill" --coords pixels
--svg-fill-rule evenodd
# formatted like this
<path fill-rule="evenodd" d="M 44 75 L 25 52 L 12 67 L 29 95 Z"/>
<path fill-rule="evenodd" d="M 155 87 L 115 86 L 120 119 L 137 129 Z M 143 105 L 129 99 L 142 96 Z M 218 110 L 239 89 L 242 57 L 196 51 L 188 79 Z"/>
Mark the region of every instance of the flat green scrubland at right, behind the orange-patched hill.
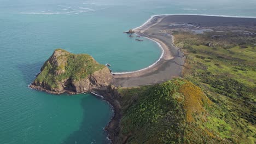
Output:
<path fill-rule="evenodd" d="M 216 39 L 215 34 L 174 34 L 174 44 L 187 56 L 183 77 L 216 104 L 216 109 L 210 109 L 214 117 L 208 118 L 214 127 L 207 123 L 207 128 L 235 143 L 254 143 L 256 39 L 235 37 L 235 33 Z M 208 46 L 209 41 L 214 46 Z M 219 128 L 220 124 L 225 128 Z"/>

